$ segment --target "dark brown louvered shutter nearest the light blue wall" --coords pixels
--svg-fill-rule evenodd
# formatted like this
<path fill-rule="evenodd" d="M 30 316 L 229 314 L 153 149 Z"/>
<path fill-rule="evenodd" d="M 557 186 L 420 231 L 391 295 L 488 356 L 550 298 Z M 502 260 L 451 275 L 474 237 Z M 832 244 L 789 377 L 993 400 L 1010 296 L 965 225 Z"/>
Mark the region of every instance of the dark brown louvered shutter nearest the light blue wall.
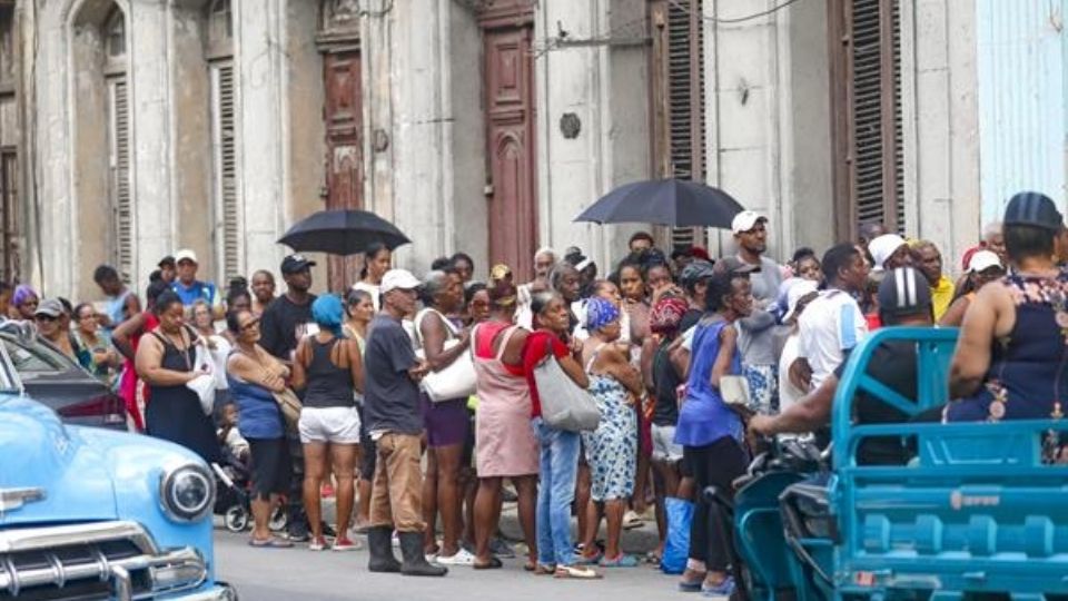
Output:
<path fill-rule="evenodd" d="M 844 8 L 851 225 L 903 230 L 900 0 L 846 0 Z"/>

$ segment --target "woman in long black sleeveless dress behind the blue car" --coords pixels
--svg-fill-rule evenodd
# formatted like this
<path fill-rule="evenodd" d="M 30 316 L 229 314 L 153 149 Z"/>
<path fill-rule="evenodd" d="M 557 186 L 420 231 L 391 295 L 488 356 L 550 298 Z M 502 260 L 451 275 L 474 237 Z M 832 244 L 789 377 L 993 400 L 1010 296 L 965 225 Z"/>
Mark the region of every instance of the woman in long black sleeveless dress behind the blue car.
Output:
<path fill-rule="evenodd" d="M 167 290 L 156 299 L 159 325 L 137 347 L 137 373 L 150 394 L 145 430 L 189 449 L 207 462 L 220 461 L 211 417 L 204 414 L 197 393 L 186 383 L 206 373 L 195 365 L 199 338 L 185 325 L 181 299 Z"/>

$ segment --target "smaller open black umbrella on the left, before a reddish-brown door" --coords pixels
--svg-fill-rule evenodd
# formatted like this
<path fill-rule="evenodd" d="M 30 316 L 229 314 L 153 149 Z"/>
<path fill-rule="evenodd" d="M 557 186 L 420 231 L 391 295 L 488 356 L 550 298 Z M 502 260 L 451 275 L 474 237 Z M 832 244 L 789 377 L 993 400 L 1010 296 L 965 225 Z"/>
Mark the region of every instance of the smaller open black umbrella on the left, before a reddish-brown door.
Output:
<path fill-rule="evenodd" d="M 390 250 L 409 244 L 397 227 L 367 210 L 320 210 L 300 219 L 278 243 L 298 253 L 356 255 L 373 243 L 385 244 Z"/>

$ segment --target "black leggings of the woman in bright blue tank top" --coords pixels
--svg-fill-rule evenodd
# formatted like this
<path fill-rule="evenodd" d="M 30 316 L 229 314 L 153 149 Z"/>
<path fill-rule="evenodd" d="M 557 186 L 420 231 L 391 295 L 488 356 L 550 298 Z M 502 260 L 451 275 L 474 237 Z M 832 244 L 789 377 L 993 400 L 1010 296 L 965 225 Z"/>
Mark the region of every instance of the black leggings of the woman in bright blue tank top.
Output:
<path fill-rule="evenodd" d="M 734 487 L 731 483 L 745 473 L 749 457 L 738 441 L 724 436 L 704 446 L 683 447 L 683 463 L 694 479 L 698 499 L 690 526 L 690 559 L 705 562 L 709 570 L 726 572 L 731 565 L 731 553 L 723 548 L 722 541 L 733 541 L 734 533 L 723 531 L 719 506 L 705 501 L 703 493 L 706 486 L 714 485 L 733 499 Z"/>

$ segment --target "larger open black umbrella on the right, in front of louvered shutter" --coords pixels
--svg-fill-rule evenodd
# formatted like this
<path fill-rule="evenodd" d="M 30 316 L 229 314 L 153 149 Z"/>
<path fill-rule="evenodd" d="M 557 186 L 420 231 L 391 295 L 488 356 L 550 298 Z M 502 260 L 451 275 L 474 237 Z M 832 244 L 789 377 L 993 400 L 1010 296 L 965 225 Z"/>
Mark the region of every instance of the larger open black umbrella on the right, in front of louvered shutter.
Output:
<path fill-rule="evenodd" d="M 610 191 L 575 220 L 730 228 L 731 219 L 742 210 L 738 200 L 719 188 L 682 179 L 654 179 Z"/>

